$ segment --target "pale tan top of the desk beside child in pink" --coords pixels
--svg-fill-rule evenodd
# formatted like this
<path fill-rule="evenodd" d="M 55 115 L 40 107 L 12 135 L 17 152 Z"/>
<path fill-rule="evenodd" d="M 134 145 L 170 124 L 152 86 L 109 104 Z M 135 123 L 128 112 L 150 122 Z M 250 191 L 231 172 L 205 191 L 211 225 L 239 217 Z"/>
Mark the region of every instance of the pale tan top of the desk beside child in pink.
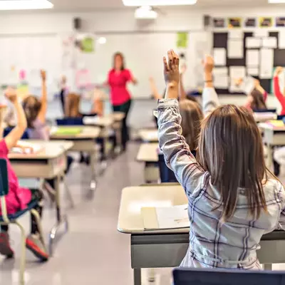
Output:
<path fill-rule="evenodd" d="M 11 160 L 47 160 L 59 157 L 64 152 L 68 151 L 73 147 L 73 142 L 68 141 L 45 141 L 45 140 L 20 140 L 19 144 L 35 144 L 41 145 L 43 150 L 32 154 L 21 154 L 21 153 L 9 153 L 9 159 Z"/>

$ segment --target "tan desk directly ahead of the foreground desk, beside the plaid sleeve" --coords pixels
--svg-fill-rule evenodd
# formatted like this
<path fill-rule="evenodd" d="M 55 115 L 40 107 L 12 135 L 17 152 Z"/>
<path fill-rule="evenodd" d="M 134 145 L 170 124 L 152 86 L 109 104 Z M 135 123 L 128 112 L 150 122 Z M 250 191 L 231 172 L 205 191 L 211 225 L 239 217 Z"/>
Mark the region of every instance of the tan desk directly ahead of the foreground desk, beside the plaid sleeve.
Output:
<path fill-rule="evenodd" d="M 142 143 L 138 150 L 137 160 L 145 163 L 145 182 L 153 182 L 159 179 L 158 168 L 158 143 Z"/>

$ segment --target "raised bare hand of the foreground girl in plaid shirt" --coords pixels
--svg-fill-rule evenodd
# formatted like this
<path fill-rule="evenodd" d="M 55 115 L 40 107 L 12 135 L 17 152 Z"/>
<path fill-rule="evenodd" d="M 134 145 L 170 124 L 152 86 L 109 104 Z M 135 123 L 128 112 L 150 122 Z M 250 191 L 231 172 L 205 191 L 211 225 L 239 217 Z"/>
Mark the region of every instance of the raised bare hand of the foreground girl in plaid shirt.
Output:
<path fill-rule="evenodd" d="M 179 57 L 173 50 L 167 52 L 167 57 L 168 62 L 163 57 L 165 83 L 178 85 L 180 81 Z"/>

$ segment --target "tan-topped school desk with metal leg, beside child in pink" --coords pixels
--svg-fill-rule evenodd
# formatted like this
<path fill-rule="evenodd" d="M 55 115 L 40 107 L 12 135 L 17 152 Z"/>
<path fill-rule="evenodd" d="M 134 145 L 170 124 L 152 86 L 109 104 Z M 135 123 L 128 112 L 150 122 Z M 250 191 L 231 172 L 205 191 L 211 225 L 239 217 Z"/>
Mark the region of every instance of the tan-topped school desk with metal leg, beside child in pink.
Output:
<path fill-rule="evenodd" d="M 43 140 L 20 140 L 26 144 L 41 145 L 43 148 L 34 154 L 10 153 L 9 160 L 21 178 L 43 178 L 55 180 L 56 196 L 56 224 L 49 234 L 49 251 L 53 254 L 53 246 L 56 241 L 56 234 L 61 225 L 68 231 L 68 219 L 61 213 L 61 201 L 59 185 L 61 177 L 64 177 L 66 170 L 66 153 L 73 147 L 73 142 L 67 141 L 43 141 Z"/>

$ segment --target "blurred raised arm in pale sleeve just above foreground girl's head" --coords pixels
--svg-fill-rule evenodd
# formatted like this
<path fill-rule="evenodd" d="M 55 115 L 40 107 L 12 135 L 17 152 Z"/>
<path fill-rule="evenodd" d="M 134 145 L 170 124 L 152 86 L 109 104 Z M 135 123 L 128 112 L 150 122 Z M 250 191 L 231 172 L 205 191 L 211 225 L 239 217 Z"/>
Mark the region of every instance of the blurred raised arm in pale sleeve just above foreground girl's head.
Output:
<path fill-rule="evenodd" d="M 202 93 L 202 107 L 205 116 L 209 115 L 219 106 L 219 98 L 214 89 L 212 71 L 214 68 L 214 59 L 212 56 L 206 56 L 203 61 L 204 66 L 204 89 Z"/>

